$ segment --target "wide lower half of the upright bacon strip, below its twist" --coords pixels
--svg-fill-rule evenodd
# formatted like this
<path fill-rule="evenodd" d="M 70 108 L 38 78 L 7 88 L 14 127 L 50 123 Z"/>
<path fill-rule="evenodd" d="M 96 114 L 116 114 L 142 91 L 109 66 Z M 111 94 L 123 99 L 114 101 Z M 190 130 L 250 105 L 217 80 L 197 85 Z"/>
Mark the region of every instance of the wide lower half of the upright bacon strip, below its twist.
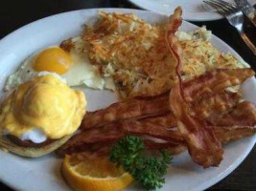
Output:
<path fill-rule="evenodd" d="M 171 91 L 171 108 L 177 119 L 178 129 L 187 142 L 192 159 L 204 168 L 218 166 L 222 159 L 221 142 L 203 121 L 189 115 L 188 105 L 180 95 L 179 85 Z"/>

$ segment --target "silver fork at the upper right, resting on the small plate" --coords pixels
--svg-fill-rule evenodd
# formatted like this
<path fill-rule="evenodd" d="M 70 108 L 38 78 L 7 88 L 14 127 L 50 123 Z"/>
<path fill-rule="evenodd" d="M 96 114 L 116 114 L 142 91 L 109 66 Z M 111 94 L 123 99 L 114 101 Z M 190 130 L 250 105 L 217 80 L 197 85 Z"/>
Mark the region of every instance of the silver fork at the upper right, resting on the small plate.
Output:
<path fill-rule="evenodd" d="M 244 33 L 244 15 L 243 12 L 238 10 L 238 8 L 230 3 L 227 3 L 222 0 L 206 0 L 203 1 L 207 5 L 211 6 L 215 11 L 219 12 L 222 16 L 224 16 L 230 25 L 235 27 L 237 31 L 240 33 L 244 43 L 249 47 L 249 49 L 256 55 L 256 48 L 249 40 L 247 35 Z"/>

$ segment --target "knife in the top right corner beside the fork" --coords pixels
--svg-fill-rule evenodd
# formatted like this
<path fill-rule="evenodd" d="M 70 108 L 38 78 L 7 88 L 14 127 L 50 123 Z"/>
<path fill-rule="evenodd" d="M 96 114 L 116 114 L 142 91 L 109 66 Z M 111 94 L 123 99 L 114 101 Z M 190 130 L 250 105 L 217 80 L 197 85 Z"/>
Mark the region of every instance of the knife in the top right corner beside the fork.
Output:
<path fill-rule="evenodd" d="M 256 11 L 247 0 L 234 0 L 237 7 L 244 12 L 252 24 L 256 27 Z"/>

